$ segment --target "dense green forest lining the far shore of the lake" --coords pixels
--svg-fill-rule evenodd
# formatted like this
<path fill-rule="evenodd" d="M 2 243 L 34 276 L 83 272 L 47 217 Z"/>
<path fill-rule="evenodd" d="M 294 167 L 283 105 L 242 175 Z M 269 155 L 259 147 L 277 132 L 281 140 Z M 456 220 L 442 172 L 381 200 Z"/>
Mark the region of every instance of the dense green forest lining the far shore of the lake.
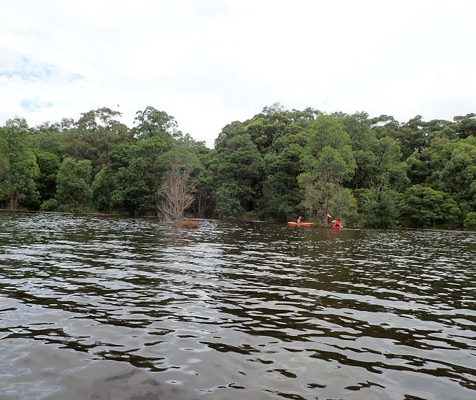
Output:
<path fill-rule="evenodd" d="M 164 111 L 110 108 L 0 128 L 0 207 L 324 226 L 476 230 L 476 114 L 406 123 L 279 103 L 222 128 L 215 148 Z"/>

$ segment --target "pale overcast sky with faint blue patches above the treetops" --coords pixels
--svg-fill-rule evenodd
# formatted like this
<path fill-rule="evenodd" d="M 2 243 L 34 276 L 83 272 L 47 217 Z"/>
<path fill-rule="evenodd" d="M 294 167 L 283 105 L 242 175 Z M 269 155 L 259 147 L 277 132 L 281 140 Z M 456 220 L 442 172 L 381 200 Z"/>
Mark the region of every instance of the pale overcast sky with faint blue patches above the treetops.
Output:
<path fill-rule="evenodd" d="M 15 0 L 0 126 L 152 106 L 209 147 L 265 106 L 407 122 L 476 112 L 474 0 Z"/>

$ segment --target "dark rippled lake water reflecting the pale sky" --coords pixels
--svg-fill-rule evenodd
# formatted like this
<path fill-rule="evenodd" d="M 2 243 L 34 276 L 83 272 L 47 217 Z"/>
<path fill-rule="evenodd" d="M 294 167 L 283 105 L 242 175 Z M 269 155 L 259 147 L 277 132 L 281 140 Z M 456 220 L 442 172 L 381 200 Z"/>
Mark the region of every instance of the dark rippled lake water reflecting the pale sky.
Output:
<path fill-rule="evenodd" d="M 0 213 L 0 399 L 476 399 L 476 234 Z"/>

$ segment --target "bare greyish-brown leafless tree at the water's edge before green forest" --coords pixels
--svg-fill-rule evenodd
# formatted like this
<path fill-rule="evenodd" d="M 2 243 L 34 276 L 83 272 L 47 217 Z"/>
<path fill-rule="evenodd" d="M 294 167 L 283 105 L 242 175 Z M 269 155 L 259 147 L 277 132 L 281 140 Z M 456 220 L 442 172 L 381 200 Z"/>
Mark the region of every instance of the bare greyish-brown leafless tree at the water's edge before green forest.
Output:
<path fill-rule="evenodd" d="M 172 171 L 164 175 L 157 208 L 166 221 L 177 221 L 192 204 L 195 188 L 192 186 L 192 170 L 183 166 L 179 159 L 172 163 Z"/>

